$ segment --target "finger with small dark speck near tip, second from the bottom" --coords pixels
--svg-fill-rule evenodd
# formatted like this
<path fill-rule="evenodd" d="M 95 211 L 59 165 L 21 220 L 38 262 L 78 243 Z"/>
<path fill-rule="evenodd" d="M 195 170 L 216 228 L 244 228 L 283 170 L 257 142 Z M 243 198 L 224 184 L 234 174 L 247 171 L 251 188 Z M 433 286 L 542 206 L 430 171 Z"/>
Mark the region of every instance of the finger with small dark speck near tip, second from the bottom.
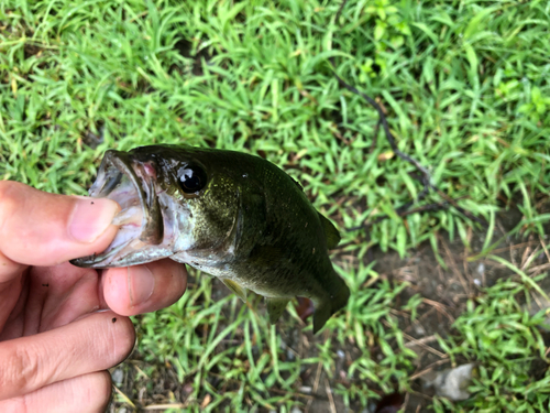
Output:
<path fill-rule="evenodd" d="M 46 333 L 0 343 L 0 400 L 116 366 L 128 357 L 134 339 L 129 318 L 102 312 Z"/>

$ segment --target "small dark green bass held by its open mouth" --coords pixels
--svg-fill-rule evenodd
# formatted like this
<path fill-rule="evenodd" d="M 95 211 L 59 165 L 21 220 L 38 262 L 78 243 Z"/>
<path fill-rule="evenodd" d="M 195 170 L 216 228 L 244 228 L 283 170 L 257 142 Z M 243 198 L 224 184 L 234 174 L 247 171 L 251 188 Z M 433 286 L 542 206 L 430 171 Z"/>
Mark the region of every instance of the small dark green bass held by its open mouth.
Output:
<path fill-rule="evenodd" d="M 243 302 L 266 298 L 271 324 L 296 297 L 315 304 L 314 334 L 350 290 L 328 251 L 336 227 L 301 185 L 260 156 L 188 145 L 108 150 L 89 189 L 116 200 L 118 232 L 102 252 L 70 262 L 107 269 L 169 258 L 221 280 Z"/>

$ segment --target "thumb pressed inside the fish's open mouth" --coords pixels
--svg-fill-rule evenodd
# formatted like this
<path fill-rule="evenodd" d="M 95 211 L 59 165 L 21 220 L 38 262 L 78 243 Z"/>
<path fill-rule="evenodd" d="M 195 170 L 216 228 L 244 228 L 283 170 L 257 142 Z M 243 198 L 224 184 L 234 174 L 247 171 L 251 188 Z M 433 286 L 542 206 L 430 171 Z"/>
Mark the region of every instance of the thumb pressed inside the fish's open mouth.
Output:
<path fill-rule="evenodd" d="M 28 265 L 54 265 L 101 252 L 114 238 L 111 221 L 119 210 L 111 199 L 48 194 L 0 181 L 0 252 Z M 11 275 L 0 267 L 0 282 Z"/>

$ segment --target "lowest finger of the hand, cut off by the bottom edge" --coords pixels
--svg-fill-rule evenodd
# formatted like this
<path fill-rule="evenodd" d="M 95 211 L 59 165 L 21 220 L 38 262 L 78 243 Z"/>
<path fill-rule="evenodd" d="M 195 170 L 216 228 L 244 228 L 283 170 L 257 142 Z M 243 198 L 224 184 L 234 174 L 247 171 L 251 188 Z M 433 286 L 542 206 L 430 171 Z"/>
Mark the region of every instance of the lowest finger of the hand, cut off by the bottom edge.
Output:
<path fill-rule="evenodd" d="M 0 412 L 103 412 L 110 398 L 111 376 L 107 371 L 99 371 L 0 401 Z"/>

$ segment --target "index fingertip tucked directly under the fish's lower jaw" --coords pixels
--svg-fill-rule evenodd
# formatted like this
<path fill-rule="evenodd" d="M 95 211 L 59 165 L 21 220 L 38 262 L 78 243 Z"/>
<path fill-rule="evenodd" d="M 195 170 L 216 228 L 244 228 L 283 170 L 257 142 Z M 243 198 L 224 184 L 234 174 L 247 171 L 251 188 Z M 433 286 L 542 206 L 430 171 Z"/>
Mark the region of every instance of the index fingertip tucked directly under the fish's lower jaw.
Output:
<path fill-rule="evenodd" d="M 114 313 L 122 315 L 167 307 L 179 300 L 186 287 L 185 265 L 169 259 L 109 269 L 102 274 L 105 302 Z"/>

